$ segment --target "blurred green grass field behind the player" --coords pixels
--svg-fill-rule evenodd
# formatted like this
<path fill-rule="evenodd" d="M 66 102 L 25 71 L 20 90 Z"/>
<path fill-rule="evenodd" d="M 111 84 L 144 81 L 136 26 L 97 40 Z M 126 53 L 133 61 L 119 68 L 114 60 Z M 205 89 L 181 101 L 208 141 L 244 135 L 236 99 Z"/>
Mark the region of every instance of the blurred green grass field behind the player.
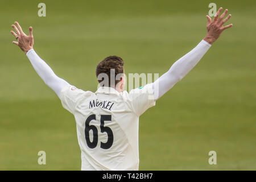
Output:
<path fill-rule="evenodd" d="M 46 17 L 38 4 L 46 3 Z M 80 89 L 97 89 L 96 65 L 125 60 L 126 73 L 166 72 L 206 34 L 209 3 L 233 27 L 140 118 L 140 170 L 256 169 L 255 1 L 0 1 L 0 169 L 80 170 L 73 115 L 27 57 L 11 24 L 34 27 L 34 49 Z M 39 165 L 38 151 L 47 164 Z M 209 151 L 217 165 L 209 165 Z"/>

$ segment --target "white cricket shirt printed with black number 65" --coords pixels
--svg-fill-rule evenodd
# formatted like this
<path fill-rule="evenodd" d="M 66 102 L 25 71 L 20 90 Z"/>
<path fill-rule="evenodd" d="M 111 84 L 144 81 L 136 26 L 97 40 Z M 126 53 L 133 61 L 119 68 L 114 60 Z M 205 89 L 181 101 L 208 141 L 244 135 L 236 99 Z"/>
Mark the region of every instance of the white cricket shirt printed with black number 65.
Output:
<path fill-rule="evenodd" d="M 131 90 L 130 93 L 119 93 L 110 87 L 100 87 L 93 93 L 65 86 L 60 100 L 63 107 L 75 115 L 82 170 L 138 170 L 139 115 L 155 105 L 154 99 L 148 99 L 153 97 L 151 85 Z M 96 120 L 90 121 L 89 125 L 97 127 L 98 141 L 91 148 L 86 143 L 85 121 L 93 114 Z M 109 140 L 108 134 L 101 132 L 102 115 L 111 117 L 111 121 L 105 121 L 103 125 L 113 132 L 113 144 L 108 149 L 101 148 L 101 142 Z M 90 131 L 90 142 L 93 142 L 93 135 Z"/>

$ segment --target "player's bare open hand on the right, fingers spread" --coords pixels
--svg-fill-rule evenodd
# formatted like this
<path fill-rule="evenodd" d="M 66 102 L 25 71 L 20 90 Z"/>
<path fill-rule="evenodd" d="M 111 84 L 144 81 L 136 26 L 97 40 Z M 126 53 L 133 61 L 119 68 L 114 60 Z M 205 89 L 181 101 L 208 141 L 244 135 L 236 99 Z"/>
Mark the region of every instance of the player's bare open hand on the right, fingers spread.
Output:
<path fill-rule="evenodd" d="M 219 38 L 222 31 L 233 26 L 233 24 L 223 26 L 223 24 L 226 23 L 226 21 L 228 21 L 231 15 L 229 14 L 228 16 L 226 16 L 224 20 L 222 20 L 226 13 L 228 13 L 228 10 L 225 10 L 224 13 L 220 16 L 220 18 L 218 18 L 218 15 L 220 15 L 221 11 L 222 7 L 218 9 L 216 16 L 214 17 L 213 20 L 210 18 L 210 16 L 207 15 L 207 35 L 205 36 L 204 40 L 209 44 L 213 44 Z"/>

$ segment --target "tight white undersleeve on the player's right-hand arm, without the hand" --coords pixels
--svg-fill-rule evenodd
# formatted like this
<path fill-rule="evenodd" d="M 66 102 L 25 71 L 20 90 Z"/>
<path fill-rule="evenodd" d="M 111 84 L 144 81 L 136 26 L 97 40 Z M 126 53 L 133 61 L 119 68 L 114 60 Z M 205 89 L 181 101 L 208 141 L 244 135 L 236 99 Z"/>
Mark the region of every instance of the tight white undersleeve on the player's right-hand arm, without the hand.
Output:
<path fill-rule="evenodd" d="M 170 90 L 178 81 L 180 81 L 200 59 L 205 55 L 208 49 L 212 46 L 205 40 L 201 40 L 195 48 L 193 48 L 186 55 L 177 60 L 168 72 L 164 73 L 153 84 L 154 98 L 162 97 L 164 93 Z"/>

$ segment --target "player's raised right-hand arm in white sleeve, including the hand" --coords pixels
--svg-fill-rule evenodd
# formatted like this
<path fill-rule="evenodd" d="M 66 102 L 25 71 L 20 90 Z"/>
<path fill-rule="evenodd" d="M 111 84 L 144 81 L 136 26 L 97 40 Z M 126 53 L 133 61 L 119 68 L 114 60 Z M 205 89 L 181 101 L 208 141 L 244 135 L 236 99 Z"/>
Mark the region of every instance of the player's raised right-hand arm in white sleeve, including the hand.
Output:
<path fill-rule="evenodd" d="M 229 14 L 224 20 L 224 16 L 228 13 L 228 10 L 225 10 L 224 13 L 218 18 L 222 7 L 218 9 L 216 16 L 212 20 L 207 15 L 207 35 L 195 48 L 193 48 L 186 55 L 177 60 L 168 72 L 164 73 L 161 77 L 156 80 L 152 86 L 154 90 L 154 98 L 162 97 L 164 93 L 170 90 L 178 81 L 180 81 L 195 65 L 200 61 L 200 59 L 205 55 L 210 46 L 218 39 L 222 31 L 232 27 L 233 24 L 223 26 L 223 24 L 228 21 L 231 17 Z"/>

